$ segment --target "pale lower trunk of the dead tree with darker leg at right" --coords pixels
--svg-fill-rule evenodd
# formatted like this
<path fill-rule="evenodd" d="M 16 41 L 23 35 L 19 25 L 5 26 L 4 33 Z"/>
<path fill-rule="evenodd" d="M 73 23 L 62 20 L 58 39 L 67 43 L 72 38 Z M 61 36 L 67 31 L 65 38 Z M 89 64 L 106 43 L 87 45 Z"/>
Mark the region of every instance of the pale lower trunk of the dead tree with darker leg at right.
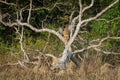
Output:
<path fill-rule="evenodd" d="M 74 56 L 71 46 L 69 45 L 65 46 L 62 56 L 57 60 L 57 63 L 53 65 L 52 69 L 66 69 L 70 61 L 72 61 L 76 66 L 80 65 L 79 60 Z"/>

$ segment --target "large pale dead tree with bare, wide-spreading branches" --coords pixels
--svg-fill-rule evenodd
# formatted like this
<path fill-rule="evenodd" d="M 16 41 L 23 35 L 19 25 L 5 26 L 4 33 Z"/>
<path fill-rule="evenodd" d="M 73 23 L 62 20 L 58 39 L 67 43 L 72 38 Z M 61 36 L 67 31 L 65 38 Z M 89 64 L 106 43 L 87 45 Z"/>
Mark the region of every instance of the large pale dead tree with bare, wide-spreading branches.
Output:
<path fill-rule="evenodd" d="M 4 1 L 0 1 L 1 3 L 3 3 Z M 66 35 L 63 34 L 63 36 L 55 31 L 55 30 L 52 30 L 52 29 L 48 29 L 48 28 L 42 28 L 42 29 L 37 29 L 35 28 L 34 26 L 32 26 L 29 22 L 29 19 L 31 17 L 31 10 L 32 10 L 32 0 L 30 0 L 30 7 L 29 7 L 29 13 L 28 13 L 28 18 L 26 20 L 26 22 L 22 22 L 20 19 L 16 19 L 15 22 L 12 22 L 12 23 L 8 23 L 8 22 L 4 22 L 3 21 L 3 15 L 0 14 L 0 23 L 2 23 L 3 25 L 5 26 L 9 26 L 9 27 L 15 27 L 15 26 L 21 26 L 21 27 L 27 27 L 35 32 L 48 32 L 48 33 L 51 33 L 51 34 L 54 34 L 56 35 L 63 43 L 64 43 L 64 50 L 62 52 L 62 56 L 57 58 L 55 57 L 54 55 L 52 54 L 47 54 L 47 56 L 51 56 L 53 57 L 54 61 L 53 61 L 53 69 L 54 68 L 59 68 L 59 69 L 65 69 L 68 65 L 68 63 L 72 60 L 73 62 L 76 62 L 76 60 L 73 58 L 71 59 L 71 56 L 73 54 L 76 54 L 78 52 L 83 52 L 87 49 L 90 49 L 90 48 L 93 48 L 94 50 L 96 51 L 101 51 L 103 53 L 106 53 L 106 54 L 120 54 L 120 53 L 115 53 L 115 52 L 106 52 L 106 51 L 103 51 L 99 48 L 99 46 L 101 46 L 102 42 L 104 42 L 105 40 L 107 39 L 120 39 L 120 37 L 105 37 L 101 40 L 93 40 L 93 41 L 97 41 L 98 44 L 91 44 L 91 45 L 88 45 L 87 48 L 83 48 L 81 50 L 75 50 L 75 51 L 72 51 L 72 43 L 75 41 L 81 27 L 84 27 L 85 24 L 93 21 L 93 20 L 96 20 L 97 18 L 99 18 L 102 14 L 104 14 L 108 9 L 110 9 L 111 7 L 113 7 L 115 4 L 117 4 L 119 2 L 119 0 L 115 0 L 114 2 L 112 2 L 110 5 L 108 5 L 105 9 L 103 9 L 102 11 L 100 11 L 99 13 L 97 13 L 94 17 L 90 17 L 88 19 L 83 19 L 83 14 L 86 10 L 90 9 L 93 5 L 94 5 L 94 0 L 91 0 L 91 3 L 90 5 L 86 6 L 86 7 L 83 7 L 82 5 L 82 0 L 79 0 L 79 14 L 75 17 L 73 17 L 74 15 L 74 12 L 72 12 L 72 14 L 70 15 L 70 20 L 69 20 L 69 25 L 67 26 L 67 32 L 66 32 Z M 7 2 L 4 2 L 5 4 L 8 4 Z M 58 3 L 56 3 L 52 9 L 54 9 L 54 7 L 57 5 Z M 9 5 L 15 5 L 15 4 L 12 4 L 12 3 L 9 3 Z M 49 9 L 51 10 L 51 9 Z M 21 14 L 21 13 L 20 13 Z M 69 34 L 68 34 L 69 32 Z M 63 31 L 64 33 L 64 31 Z M 91 41 L 91 42 L 93 42 Z M 75 60 L 75 61 L 74 61 Z M 77 64 L 77 63 L 76 63 Z"/>

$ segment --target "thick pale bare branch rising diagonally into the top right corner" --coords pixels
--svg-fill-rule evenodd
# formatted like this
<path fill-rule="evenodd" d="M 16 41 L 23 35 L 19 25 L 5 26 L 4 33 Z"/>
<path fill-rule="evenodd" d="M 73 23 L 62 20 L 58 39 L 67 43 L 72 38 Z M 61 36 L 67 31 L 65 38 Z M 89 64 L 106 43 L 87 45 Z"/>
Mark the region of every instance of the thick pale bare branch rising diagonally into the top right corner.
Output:
<path fill-rule="evenodd" d="M 89 19 L 85 19 L 85 20 L 83 20 L 81 23 L 83 24 L 83 23 L 85 23 L 85 22 L 90 22 L 90 21 L 92 21 L 92 20 L 95 20 L 95 19 L 97 19 L 98 17 L 100 17 L 103 13 L 105 13 L 108 9 L 110 9 L 111 7 L 113 7 L 116 3 L 118 3 L 119 2 L 119 0 L 116 0 L 115 2 L 113 2 L 113 3 L 111 3 L 108 7 L 106 7 L 105 9 L 103 9 L 100 13 L 98 13 L 96 16 L 94 16 L 94 17 L 91 17 L 91 18 L 89 18 Z"/>

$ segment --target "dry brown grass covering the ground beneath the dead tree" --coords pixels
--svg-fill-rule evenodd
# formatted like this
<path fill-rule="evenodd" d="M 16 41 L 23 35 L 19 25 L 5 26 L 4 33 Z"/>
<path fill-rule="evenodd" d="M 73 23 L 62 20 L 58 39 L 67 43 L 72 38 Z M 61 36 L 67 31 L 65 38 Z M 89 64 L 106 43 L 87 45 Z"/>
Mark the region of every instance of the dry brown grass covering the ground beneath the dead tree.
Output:
<path fill-rule="evenodd" d="M 80 67 L 70 63 L 66 70 L 51 71 L 32 67 L 24 70 L 19 65 L 0 66 L 0 80 L 120 80 L 120 65 L 103 63 L 101 57 L 88 56 Z"/>

